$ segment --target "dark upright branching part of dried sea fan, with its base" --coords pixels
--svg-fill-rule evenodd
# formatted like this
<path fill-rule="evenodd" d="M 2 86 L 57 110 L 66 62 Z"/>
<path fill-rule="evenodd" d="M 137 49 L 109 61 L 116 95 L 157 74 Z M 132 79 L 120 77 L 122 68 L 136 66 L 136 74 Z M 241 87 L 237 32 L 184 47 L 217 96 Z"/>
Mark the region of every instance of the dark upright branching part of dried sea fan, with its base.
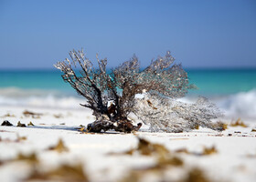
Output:
<path fill-rule="evenodd" d="M 171 98 L 183 97 L 188 84 L 187 72 L 181 65 L 175 65 L 174 57 L 167 51 L 149 66 L 141 69 L 136 56 L 112 70 L 107 70 L 107 59 L 99 59 L 98 68 L 92 66 L 83 51 L 70 51 L 63 62 L 55 66 L 63 73 L 62 78 L 80 96 L 87 99 L 96 121 L 87 126 L 91 132 L 114 129 L 121 132 L 136 131 L 141 124 L 133 126 L 128 115 L 133 111 L 135 95 L 150 93 Z M 75 71 L 76 70 L 76 71 Z"/>

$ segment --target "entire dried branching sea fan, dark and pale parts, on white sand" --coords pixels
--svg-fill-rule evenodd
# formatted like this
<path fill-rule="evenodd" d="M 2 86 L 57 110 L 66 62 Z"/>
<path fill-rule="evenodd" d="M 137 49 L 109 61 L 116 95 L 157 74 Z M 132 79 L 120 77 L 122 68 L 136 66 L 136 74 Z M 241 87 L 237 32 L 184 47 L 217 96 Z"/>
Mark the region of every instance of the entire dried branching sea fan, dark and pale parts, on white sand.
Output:
<path fill-rule="evenodd" d="M 98 55 L 97 71 L 83 50 L 72 50 L 69 56 L 71 61 L 66 58 L 57 62 L 55 67 L 63 73 L 62 79 L 87 99 L 87 103 L 80 106 L 92 109 L 92 115 L 96 117 L 87 126 L 91 132 L 138 131 L 142 123 L 133 125 L 128 118 L 130 113 L 150 125 L 152 132 L 183 132 L 199 126 L 218 131 L 225 129 L 225 126 L 211 122 L 222 113 L 207 98 L 199 97 L 194 104 L 176 100 L 197 86 L 188 83 L 187 72 L 181 65 L 173 64 L 175 58 L 170 51 L 144 69 L 133 56 L 111 71 L 106 70 L 107 59 L 100 60 Z M 76 66 L 81 68 L 79 74 Z M 143 94 L 143 97 L 136 97 L 138 94 Z"/>

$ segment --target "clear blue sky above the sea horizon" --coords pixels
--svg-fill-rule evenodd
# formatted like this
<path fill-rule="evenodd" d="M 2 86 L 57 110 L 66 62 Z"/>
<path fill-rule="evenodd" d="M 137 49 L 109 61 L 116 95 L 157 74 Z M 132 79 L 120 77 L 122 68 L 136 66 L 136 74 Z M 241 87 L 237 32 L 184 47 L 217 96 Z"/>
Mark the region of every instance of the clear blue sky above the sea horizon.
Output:
<path fill-rule="evenodd" d="M 0 69 L 53 68 L 81 47 L 109 66 L 170 50 L 185 67 L 256 67 L 256 1 L 0 0 Z"/>

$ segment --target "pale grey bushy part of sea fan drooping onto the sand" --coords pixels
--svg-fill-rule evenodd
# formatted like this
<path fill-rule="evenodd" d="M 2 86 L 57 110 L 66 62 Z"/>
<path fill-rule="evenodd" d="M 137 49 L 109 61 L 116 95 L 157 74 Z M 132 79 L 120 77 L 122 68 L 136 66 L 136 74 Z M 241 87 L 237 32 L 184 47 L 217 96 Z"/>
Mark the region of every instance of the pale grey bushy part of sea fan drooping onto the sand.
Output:
<path fill-rule="evenodd" d="M 183 132 L 198 126 L 225 129 L 222 123 L 211 122 L 222 114 L 205 97 L 199 97 L 195 104 L 187 104 L 165 96 L 146 94 L 136 99 L 133 112 L 150 125 L 152 132 Z"/>

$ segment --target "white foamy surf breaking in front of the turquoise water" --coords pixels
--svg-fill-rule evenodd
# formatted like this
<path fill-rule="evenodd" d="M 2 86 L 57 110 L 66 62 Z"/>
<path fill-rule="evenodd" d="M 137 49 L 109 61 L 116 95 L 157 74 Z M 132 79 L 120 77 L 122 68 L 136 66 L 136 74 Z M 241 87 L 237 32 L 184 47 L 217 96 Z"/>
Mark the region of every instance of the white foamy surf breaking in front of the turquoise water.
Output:
<path fill-rule="evenodd" d="M 180 99 L 183 102 L 195 102 L 195 96 Z M 256 89 L 234 95 L 209 97 L 219 106 L 225 116 L 256 118 Z M 21 89 L 16 87 L 0 88 L 0 106 L 37 106 L 52 108 L 81 109 L 85 98 L 58 90 Z"/>

